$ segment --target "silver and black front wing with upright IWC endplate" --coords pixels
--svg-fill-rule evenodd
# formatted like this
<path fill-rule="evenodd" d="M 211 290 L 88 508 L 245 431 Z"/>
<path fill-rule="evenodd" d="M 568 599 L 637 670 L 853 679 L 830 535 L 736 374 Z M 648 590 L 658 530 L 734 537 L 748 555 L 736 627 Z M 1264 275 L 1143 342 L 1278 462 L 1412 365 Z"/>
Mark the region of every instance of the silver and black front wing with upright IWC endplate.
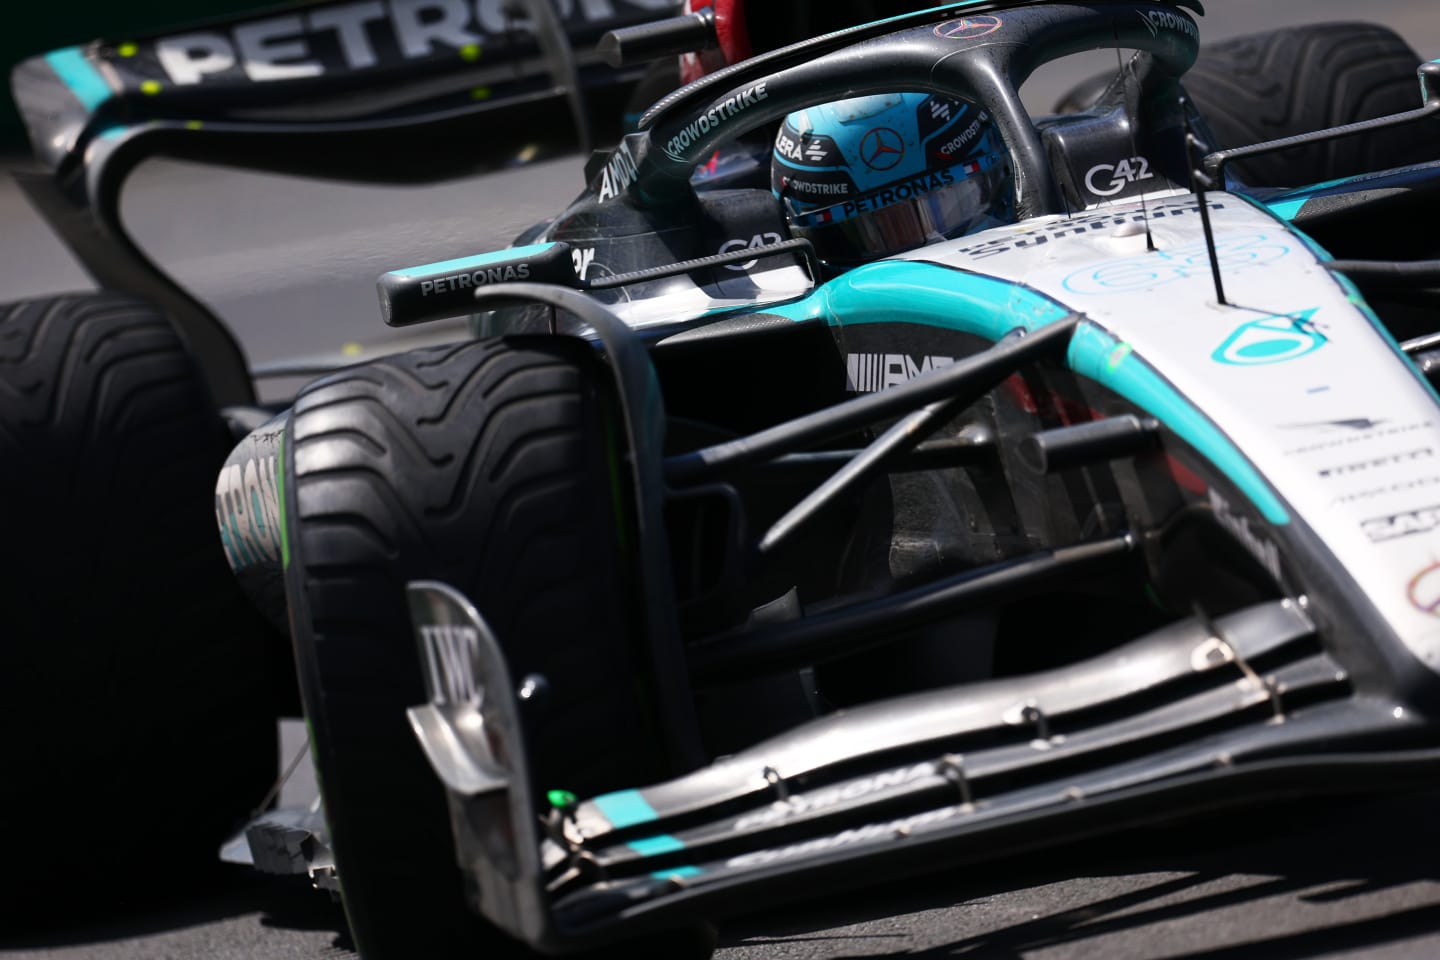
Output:
<path fill-rule="evenodd" d="M 541 816 L 494 635 L 451 587 L 409 590 L 432 694 L 412 720 L 459 862 L 481 911 L 544 950 L 1440 769 L 1428 718 L 1361 694 L 1306 610 L 1277 600 L 1051 672 L 841 711 L 665 783 L 552 790 Z M 464 639 L 436 646 L 456 626 Z"/>

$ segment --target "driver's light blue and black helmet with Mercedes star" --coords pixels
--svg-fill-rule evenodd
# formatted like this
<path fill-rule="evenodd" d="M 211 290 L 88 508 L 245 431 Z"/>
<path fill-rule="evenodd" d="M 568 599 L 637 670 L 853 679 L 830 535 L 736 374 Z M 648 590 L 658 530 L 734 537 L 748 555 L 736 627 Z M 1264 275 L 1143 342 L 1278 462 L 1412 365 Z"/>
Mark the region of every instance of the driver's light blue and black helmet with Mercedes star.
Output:
<path fill-rule="evenodd" d="M 1014 186 L 989 111 L 942 94 L 809 107 L 775 138 L 770 187 L 791 233 L 854 266 L 1014 222 Z"/>

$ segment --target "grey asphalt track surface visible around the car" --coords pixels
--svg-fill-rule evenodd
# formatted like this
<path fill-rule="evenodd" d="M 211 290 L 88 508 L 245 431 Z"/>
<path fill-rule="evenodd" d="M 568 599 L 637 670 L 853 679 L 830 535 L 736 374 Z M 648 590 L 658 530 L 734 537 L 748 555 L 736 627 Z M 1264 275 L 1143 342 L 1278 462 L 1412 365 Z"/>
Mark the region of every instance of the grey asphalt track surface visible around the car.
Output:
<path fill-rule="evenodd" d="M 1208 6 L 1201 22 L 1207 39 L 1365 19 L 1394 27 L 1423 56 L 1440 56 L 1434 0 Z M 1092 58 L 1051 68 L 1027 88 L 1027 101 L 1053 102 L 1104 66 Z M 504 246 L 580 190 L 580 161 L 380 189 L 151 163 L 132 184 L 124 213 L 141 243 L 233 325 L 252 363 L 264 364 L 396 348 L 402 338 L 376 311 L 376 275 Z M 89 285 L 9 181 L 0 186 L 0 296 Z M 284 734 L 292 747 L 294 725 Z M 311 783 L 301 776 L 287 792 L 301 799 Z M 157 784 L 161 809 L 177 802 L 184 802 L 180 764 L 173 782 Z M 936 869 L 922 879 L 732 918 L 720 928 L 717 957 L 1440 957 L 1440 784 L 1400 796 L 1246 809 L 986 866 Z M 9 882 L 23 878 L 10 874 L 0 891 Z M 0 892 L 6 960 L 354 956 L 343 917 L 327 900 L 239 869 L 177 877 L 173 895 L 138 902 L 117 877 L 109 889 L 76 889 L 73 920 L 63 924 L 26 928 L 23 918 L 6 915 L 4 900 Z"/>

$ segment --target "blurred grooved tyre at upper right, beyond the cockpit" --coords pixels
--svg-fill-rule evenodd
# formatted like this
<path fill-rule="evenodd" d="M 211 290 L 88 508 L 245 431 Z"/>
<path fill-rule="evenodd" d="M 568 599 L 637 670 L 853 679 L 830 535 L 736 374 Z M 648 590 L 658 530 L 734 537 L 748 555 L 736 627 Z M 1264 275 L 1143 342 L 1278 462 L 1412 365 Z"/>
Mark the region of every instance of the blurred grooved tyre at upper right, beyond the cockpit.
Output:
<path fill-rule="evenodd" d="M 1185 75 L 1218 147 L 1243 147 L 1420 107 L 1420 56 L 1394 32 L 1368 23 L 1319 23 L 1224 40 L 1201 49 Z M 1237 163 L 1257 187 L 1293 187 L 1424 163 L 1430 124 L 1398 127 Z"/>

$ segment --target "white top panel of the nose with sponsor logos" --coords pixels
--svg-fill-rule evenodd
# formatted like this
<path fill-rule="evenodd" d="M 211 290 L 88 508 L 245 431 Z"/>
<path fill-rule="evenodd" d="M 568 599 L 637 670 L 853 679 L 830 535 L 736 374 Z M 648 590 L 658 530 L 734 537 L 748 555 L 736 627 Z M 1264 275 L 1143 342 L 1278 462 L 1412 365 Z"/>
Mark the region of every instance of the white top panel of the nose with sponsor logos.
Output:
<path fill-rule="evenodd" d="M 1215 298 L 1195 197 L 1151 201 L 1155 252 L 1135 203 L 906 256 L 1024 284 L 1133 347 L 1236 442 L 1416 655 L 1440 669 L 1434 394 L 1305 237 L 1241 197 L 1210 203 L 1228 307 Z"/>

